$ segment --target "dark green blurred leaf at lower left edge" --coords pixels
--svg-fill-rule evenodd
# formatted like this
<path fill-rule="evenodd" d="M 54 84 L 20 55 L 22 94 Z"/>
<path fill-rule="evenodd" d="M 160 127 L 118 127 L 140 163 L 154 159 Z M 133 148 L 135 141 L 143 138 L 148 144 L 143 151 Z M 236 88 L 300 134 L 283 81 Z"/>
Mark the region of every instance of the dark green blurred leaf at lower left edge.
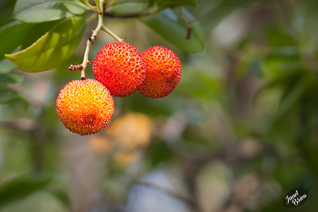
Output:
<path fill-rule="evenodd" d="M 0 186 L 0 207 L 19 200 L 46 187 L 50 179 L 38 177 L 18 177 Z"/>

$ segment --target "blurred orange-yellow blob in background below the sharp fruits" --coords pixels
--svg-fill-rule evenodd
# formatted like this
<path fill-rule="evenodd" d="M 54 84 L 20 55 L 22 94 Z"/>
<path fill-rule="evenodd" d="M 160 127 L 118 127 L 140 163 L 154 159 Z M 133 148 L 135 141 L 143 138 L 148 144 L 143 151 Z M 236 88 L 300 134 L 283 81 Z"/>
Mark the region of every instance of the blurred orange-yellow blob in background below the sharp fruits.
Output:
<path fill-rule="evenodd" d="M 142 113 L 128 113 L 117 118 L 102 136 L 90 139 L 96 154 L 110 153 L 119 163 L 136 161 L 148 146 L 153 132 L 153 120 Z"/>

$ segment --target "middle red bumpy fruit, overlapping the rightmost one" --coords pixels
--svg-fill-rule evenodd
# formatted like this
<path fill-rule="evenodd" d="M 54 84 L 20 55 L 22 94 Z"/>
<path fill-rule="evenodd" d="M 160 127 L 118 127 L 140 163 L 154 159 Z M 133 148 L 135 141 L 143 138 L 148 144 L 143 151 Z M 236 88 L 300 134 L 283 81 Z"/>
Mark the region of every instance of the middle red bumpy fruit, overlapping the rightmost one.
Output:
<path fill-rule="evenodd" d="M 104 46 L 93 62 L 93 72 L 114 96 L 134 93 L 146 75 L 145 63 L 136 47 L 123 42 Z"/>

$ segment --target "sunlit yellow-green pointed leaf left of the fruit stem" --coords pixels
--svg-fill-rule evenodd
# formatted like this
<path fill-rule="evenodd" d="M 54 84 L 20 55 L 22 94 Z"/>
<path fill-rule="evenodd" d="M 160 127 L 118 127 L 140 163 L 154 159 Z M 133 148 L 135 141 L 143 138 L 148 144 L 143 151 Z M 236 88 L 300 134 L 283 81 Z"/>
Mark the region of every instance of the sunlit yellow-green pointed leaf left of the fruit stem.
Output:
<path fill-rule="evenodd" d="M 77 49 L 84 33 L 84 26 L 82 17 L 65 19 L 32 46 L 5 57 L 24 71 L 36 72 L 57 68 Z"/>

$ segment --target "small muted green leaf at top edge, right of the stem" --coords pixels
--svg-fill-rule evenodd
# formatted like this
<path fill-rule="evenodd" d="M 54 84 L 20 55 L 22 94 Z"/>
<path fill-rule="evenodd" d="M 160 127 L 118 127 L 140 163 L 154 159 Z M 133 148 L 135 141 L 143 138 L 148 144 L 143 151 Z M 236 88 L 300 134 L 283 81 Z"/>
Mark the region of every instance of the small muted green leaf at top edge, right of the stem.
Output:
<path fill-rule="evenodd" d="M 110 11 L 115 14 L 128 14 L 143 11 L 148 6 L 148 0 L 117 0 Z"/>

